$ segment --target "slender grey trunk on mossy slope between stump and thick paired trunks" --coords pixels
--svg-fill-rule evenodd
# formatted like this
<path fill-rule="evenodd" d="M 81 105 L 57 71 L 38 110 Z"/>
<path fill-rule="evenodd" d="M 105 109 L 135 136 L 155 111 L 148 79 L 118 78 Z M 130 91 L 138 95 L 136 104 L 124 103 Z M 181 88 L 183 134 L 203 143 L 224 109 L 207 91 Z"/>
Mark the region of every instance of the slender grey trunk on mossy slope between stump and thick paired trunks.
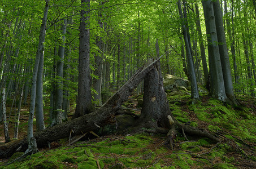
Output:
<path fill-rule="evenodd" d="M 177 5 L 179 8 L 180 19 L 184 20 L 180 1 L 177 2 Z M 185 9 L 185 7 L 184 7 L 184 9 Z M 182 23 L 182 29 L 183 29 L 185 46 L 186 46 L 186 56 L 187 56 L 188 70 L 189 70 L 188 72 L 189 72 L 190 81 L 191 81 L 191 97 L 193 99 L 199 99 L 196 73 L 194 71 L 194 61 L 193 61 L 193 57 L 192 57 L 191 47 L 189 45 L 189 40 L 188 40 L 188 30 L 187 30 L 188 28 L 186 28 L 184 21 Z"/>

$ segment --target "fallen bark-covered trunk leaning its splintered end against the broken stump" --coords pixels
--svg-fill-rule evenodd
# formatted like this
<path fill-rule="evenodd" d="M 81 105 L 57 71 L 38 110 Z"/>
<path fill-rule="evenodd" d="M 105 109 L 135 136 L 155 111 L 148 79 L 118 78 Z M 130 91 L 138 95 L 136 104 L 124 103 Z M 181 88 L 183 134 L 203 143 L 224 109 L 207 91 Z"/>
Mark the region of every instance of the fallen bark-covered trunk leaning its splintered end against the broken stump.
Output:
<path fill-rule="evenodd" d="M 159 57 L 160 59 L 160 57 Z M 45 146 L 52 141 L 63 139 L 70 136 L 72 131 L 74 135 L 81 132 L 96 130 L 99 126 L 105 126 L 107 123 L 114 121 L 114 115 L 123 102 L 128 99 L 131 92 L 145 78 L 159 61 L 155 60 L 149 65 L 142 66 L 110 99 L 101 106 L 96 112 L 86 114 L 82 117 L 75 118 L 72 121 L 58 124 L 51 128 L 36 132 L 34 138 L 37 140 L 38 148 Z M 28 148 L 26 138 L 11 141 L 8 144 L 0 146 L 0 158 L 10 157 L 17 151 L 25 151 Z"/>

